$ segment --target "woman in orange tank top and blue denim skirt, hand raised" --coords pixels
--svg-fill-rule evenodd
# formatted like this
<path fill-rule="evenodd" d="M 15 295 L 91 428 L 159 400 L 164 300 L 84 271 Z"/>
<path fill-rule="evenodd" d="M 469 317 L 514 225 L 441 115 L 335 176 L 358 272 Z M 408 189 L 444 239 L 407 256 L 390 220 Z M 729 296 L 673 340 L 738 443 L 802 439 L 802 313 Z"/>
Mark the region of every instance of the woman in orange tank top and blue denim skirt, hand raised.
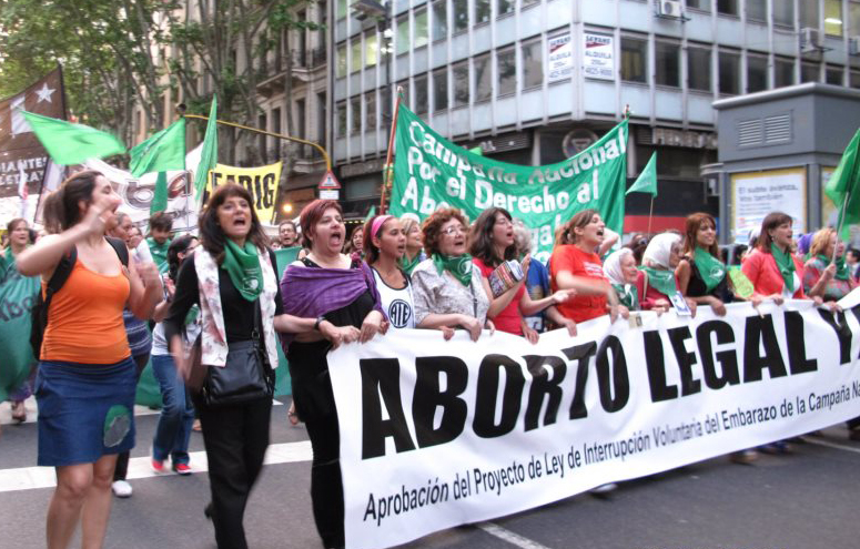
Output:
<path fill-rule="evenodd" d="M 161 282 L 154 265 L 123 266 L 105 240 L 120 199 L 101 173 L 72 175 L 44 204 L 53 234 L 22 253 L 18 270 L 41 275 L 44 289 L 60 261 L 77 252 L 51 298 L 36 379 L 39 465 L 57 470 L 47 541 L 49 549 L 68 547 L 80 517 L 82 545 L 101 547 L 117 456 L 134 446 L 135 372 L 122 309 L 128 303 L 148 318 Z"/>

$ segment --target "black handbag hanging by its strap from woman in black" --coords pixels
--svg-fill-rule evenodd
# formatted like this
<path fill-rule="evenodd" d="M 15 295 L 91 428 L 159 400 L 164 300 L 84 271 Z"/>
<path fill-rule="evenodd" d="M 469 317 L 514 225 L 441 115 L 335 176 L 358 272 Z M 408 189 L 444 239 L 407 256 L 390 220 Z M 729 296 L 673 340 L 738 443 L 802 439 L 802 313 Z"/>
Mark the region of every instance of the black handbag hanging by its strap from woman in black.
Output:
<path fill-rule="evenodd" d="M 200 390 L 206 406 L 216 408 L 274 396 L 275 375 L 269 365 L 269 355 L 261 336 L 260 317 L 257 299 L 254 302 L 254 329 L 251 340 L 227 344 L 224 367 L 206 367 L 206 377 Z"/>

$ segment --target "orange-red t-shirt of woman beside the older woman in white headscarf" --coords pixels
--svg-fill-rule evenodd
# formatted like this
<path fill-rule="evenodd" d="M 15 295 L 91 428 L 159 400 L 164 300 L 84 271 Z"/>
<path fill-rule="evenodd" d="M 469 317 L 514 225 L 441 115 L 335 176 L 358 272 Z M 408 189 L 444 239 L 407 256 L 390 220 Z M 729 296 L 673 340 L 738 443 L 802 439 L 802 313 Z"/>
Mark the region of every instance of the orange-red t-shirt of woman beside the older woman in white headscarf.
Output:
<path fill-rule="evenodd" d="M 597 281 L 605 281 L 604 265 L 595 253 L 583 252 L 573 244 L 557 246 L 549 258 L 550 285 L 553 292 L 558 291 L 556 277 L 561 271 L 568 271 L 574 276 L 585 276 Z M 607 314 L 606 295 L 581 295 L 556 305 L 561 315 L 575 322 L 590 321 Z"/>

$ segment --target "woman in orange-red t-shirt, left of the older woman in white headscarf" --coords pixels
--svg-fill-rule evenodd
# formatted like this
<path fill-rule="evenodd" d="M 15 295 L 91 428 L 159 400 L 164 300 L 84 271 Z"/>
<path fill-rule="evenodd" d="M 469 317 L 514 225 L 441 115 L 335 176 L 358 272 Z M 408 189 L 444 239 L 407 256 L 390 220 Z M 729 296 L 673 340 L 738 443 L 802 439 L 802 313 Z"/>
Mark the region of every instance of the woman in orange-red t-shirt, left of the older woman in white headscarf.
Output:
<path fill-rule="evenodd" d="M 575 322 L 586 322 L 609 313 L 613 322 L 629 316 L 618 303 L 613 285 L 604 275 L 595 251 L 604 242 L 606 224 L 597 210 L 583 210 L 565 223 L 556 235 L 550 264 L 550 287 L 576 289 L 577 295 L 558 304 L 558 311 Z"/>

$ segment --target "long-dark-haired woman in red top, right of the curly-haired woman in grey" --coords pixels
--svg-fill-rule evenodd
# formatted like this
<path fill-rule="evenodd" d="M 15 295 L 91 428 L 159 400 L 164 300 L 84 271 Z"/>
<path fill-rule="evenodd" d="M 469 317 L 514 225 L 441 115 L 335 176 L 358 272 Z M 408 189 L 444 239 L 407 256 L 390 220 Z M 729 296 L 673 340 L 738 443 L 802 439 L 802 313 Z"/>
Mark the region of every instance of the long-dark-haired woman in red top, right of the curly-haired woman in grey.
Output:
<path fill-rule="evenodd" d="M 500 207 L 484 210 L 469 233 L 472 261 L 480 270 L 484 279 L 488 279 L 493 271 L 503 262 L 516 258 L 514 220 L 507 210 Z M 525 336 L 530 343 L 537 343 L 537 332 L 525 325 L 523 316 L 530 316 L 547 307 L 564 303 L 576 292 L 561 289 L 543 299 L 533 301 L 525 289 L 530 263 L 532 256 L 526 255 L 522 265 L 523 278 L 505 293 L 493 298 L 487 311 L 487 318 L 493 321 L 498 331 Z M 557 315 L 557 319 L 560 325 L 567 327 L 570 335 L 576 335 L 575 322 L 564 318 L 561 315 Z"/>

